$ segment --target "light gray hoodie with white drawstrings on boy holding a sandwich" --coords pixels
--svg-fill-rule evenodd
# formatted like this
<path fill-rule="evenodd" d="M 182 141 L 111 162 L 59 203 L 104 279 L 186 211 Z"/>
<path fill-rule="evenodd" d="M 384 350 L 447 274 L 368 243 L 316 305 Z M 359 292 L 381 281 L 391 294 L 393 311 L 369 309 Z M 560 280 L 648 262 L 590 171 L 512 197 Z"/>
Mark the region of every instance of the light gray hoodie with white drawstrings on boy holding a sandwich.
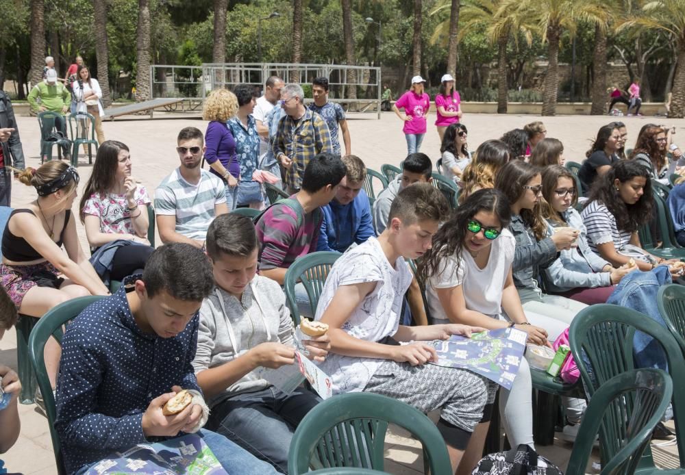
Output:
<path fill-rule="evenodd" d="M 200 308 L 197 352 L 192 367 L 197 374 L 232 361 L 260 343 L 281 342 L 292 346 L 293 331 L 286 296 L 276 281 L 255 276 L 242 293 L 242 303 L 216 287 Z M 207 404 L 214 407 L 225 398 L 269 387 L 269 382 L 256 372 L 246 374 L 221 394 L 207 400 Z"/>

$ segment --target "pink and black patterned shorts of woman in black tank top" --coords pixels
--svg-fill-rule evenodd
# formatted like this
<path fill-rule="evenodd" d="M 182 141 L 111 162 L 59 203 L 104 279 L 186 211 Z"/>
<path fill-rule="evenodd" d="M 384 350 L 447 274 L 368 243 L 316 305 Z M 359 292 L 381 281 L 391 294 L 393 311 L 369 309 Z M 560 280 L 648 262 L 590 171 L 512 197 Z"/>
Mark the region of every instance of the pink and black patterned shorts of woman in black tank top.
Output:
<path fill-rule="evenodd" d="M 47 261 L 32 266 L 0 264 L 0 284 L 7 290 L 17 310 L 21 307 L 26 292 L 36 285 L 59 289 L 64 282 L 63 277 L 58 277 L 59 274 L 60 271 Z"/>

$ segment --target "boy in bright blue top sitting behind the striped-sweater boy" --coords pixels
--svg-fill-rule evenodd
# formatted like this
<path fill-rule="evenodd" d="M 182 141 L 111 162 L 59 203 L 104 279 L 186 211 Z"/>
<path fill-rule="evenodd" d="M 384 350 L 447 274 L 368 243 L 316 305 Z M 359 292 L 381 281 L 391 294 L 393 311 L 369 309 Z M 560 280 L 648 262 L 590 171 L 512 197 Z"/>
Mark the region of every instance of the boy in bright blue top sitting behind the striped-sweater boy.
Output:
<path fill-rule="evenodd" d="M 323 207 L 323 222 L 316 251 L 344 253 L 352 244 L 362 244 L 375 235 L 369 196 L 362 190 L 366 166 L 359 157 L 343 157 L 345 178 L 333 200 Z"/>

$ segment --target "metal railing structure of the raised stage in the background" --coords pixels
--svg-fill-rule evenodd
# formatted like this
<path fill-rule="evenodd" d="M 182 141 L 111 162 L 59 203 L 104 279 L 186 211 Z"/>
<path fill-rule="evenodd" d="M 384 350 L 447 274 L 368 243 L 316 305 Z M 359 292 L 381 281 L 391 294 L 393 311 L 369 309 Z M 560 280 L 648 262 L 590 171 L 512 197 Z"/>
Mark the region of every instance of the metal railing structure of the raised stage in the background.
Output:
<path fill-rule="evenodd" d="M 216 88 L 232 89 L 236 84 L 264 87 L 269 76 L 286 83 L 311 84 L 315 77 L 327 77 L 329 100 L 347 110 L 381 112 L 381 69 L 341 64 L 204 63 L 201 66 L 150 66 L 152 98 L 183 97 L 201 101 Z M 351 94 L 356 92 L 356 94 Z"/>

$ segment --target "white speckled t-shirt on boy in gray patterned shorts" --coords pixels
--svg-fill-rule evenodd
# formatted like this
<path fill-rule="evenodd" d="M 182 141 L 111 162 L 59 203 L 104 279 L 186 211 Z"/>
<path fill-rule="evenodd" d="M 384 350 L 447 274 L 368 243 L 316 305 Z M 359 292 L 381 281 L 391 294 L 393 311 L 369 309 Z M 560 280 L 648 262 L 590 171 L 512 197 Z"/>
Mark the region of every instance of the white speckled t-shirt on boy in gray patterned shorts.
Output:
<path fill-rule="evenodd" d="M 369 238 L 336 261 L 323 286 L 315 320 L 321 320 L 338 287 L 364 282 L 377 282 L 377 285 L 352 312 L 342 329 L 367 342 L 379 342 L 395 335 L 402 298 L 412 283 L 412 272 L 402 257 L 393 267 L 376 238 Z M 339 394 L 362 391 L 384 361 L 329 353 L 320 367 L 331 376 L 333 393 Z"/>

